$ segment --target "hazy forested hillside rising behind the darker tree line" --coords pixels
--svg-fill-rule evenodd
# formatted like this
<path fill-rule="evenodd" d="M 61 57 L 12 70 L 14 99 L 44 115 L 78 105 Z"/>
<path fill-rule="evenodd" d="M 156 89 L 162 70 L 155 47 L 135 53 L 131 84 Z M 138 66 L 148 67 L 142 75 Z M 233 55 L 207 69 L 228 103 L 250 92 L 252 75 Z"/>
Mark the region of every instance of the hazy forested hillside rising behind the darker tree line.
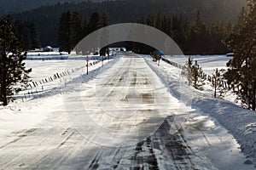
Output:
<path fill-rule="evenodd" d="M 71 1 L 70 1 L 71 2 Z M 90 16 L 95 11 L 106 11 L 110 24 L 136 22 L 142 16 L 156 15 L 158 11 L 166 15 L 183 14 L 189 20 L 195 20 L 195 8 L 201 11 L 202 20 L 207 26 L 219 21 L 225 23 L 229 20 L 236 21 L 239 10 L 245 3 L 234 0 L 115 0 L 103 3 L 59 3 L 26 11 L 21 14 L 12 14 L 14 20 L 32 20 L 39 29 L 42 46 L 58 46 L 57 30 L 58 21 L 63 11 L 78 11 L 82 15 Z M 218 53 L 218 51 L 216 52 Z"/>

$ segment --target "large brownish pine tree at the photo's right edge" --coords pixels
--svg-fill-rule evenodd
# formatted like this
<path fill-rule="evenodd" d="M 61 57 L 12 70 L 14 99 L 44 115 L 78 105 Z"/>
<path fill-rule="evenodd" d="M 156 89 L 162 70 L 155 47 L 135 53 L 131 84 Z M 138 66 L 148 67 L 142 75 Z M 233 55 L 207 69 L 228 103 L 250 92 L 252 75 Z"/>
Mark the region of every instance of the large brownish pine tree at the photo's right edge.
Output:
<path fill-rule="evenodd" d="M 226 45 L 234 52 L 224 74 L 235 89 L 241 103 L 248 109 L 256 110 L 256 1 L 247 0 L 248 12 L 242 11 L 238 30 L 230 34 Z"/>

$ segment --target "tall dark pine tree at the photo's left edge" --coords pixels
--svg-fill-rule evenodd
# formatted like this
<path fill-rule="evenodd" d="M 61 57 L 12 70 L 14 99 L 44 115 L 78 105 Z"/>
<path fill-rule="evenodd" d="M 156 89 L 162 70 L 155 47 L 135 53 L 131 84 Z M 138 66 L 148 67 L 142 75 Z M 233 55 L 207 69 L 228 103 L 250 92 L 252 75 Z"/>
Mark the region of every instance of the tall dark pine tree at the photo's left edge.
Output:
<path fill-rule="evenodd" d="M 32 70 L 26 70 L 26 53 L 9 18 L 0 20 L 0 37 L 0 101 L 8 105 L 12 96 L 26 86 Z"/>

